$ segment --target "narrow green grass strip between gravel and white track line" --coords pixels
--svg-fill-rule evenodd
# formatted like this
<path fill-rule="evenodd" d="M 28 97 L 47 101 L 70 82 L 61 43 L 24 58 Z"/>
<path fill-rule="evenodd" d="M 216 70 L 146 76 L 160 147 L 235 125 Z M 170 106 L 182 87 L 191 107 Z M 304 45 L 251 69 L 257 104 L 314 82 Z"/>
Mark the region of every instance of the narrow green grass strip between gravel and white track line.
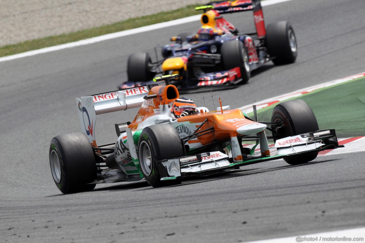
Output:
<path fill-rule="evenodd" d="M 201 11 L 195 11 L 195 7 L 198 6 L 200 5 L 189 5 L 185 8 L 180 8 L 173 11 L 161 12 L 153 15 L 142 16 L 139 18 L 128 19 L 115 24 L 109 24 L 101 27 L 91 28 L 88 30 L 49 36 L 41 39 L 27 40 L 26 42 L 17 43 L 14 45 L 7 45 L 0 48 L 0 57 L 197 15 L 201 13 Z"/>

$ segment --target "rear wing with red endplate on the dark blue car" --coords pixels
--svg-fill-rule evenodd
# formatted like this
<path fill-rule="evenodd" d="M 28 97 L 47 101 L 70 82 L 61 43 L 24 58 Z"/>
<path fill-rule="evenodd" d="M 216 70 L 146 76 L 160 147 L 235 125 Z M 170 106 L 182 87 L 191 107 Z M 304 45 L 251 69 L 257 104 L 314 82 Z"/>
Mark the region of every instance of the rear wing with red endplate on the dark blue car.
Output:
<path fill-rule="evenodd" d="M 195 10 L 203 10 L 204 12 L 207 12 L 211 9 L 214 9 L 219 14 L 252 10 L 257 36 L 266 36 L 264 13 L 262 12 L 260 0 L 215 1 L 208 3 L 205 6 L 195 8 Z"/>

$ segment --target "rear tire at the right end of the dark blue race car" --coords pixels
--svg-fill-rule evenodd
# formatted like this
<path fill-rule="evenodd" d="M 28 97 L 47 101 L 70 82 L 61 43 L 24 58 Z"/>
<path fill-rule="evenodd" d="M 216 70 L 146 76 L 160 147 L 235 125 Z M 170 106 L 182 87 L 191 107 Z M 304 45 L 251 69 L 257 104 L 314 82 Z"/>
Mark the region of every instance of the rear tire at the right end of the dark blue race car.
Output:
<path fill-rule="evenodd" d="M 266 45 L 275 65 L 295 62 L 297 43 L 292 26 L 287 21 L 269 24 L 266 28 Z"/>

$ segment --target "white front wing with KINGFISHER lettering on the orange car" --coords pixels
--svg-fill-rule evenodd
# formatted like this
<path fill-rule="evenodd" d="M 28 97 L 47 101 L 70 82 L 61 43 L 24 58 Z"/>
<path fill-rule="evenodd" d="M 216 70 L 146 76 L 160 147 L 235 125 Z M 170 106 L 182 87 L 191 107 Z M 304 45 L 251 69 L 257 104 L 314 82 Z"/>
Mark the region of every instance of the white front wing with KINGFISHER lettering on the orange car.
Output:
<path fill-rule="evenodd" d="M 320 132 L 327 132 L 327 135 L 321 136 Z M 298 140 L 302 141 L 300 142 Z M 162 177 L 161 180 L 174 180 L 182 177 L 202 176 L 219 172 L 227 172 L 236 170 L 238 167 L 244 165 L 250 165 L 253 163 L 260 163 L 274 159 L 300 157 L 303 155 L 318 153 L 319 151 L 335 149 L 344 146 L 338 145 L 334 130 L 322 130 L 278 139 L 276 141 L 276 147 L 278 150 L 276 155 L 270 155 L 266 157 L 248 155 L 247 158 L 243 159 L 242 162 L 233 162 L 232 158 L 229 158 L 228 155 L 220 151 L 168 159 L 159 162 L 158 170 Z"/>

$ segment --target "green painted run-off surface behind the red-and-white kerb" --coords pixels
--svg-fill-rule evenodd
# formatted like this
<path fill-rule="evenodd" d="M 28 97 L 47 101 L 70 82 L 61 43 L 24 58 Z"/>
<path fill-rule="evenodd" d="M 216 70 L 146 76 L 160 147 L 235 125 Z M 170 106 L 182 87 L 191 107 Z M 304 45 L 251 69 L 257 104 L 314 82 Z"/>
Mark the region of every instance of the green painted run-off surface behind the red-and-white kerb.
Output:
<path fill-rule="evenodd" d="M 334 128 L 338 138 L 365 136 L 365 78 L 295 99 L 312 108 L 319 129 Z M 274 106 L 258 110 L 258 121 L 271 121 Z M 252 113 L 249 116 L 253 117 Z"/>

